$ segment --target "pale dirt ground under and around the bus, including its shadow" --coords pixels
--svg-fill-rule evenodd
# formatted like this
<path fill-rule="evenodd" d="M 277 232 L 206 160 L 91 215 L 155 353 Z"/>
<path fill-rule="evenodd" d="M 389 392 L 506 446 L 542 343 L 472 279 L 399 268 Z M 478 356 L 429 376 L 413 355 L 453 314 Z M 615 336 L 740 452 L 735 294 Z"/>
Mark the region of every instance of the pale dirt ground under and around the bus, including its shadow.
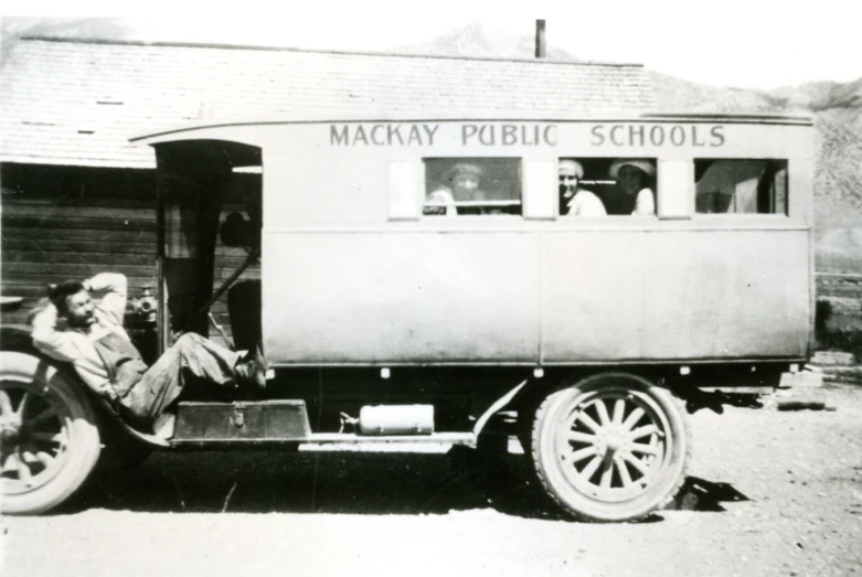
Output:
<path fill-rule="evenodd" d="M 693 415 L 683 492 L 640 523 L 560 519 L 522 455 L 483 483 L 446 448 L 158 453 L 55 514 L 2 519 L 0 573 L 862 574 L 862 387 L 795 396 L 837 410 Z"/>

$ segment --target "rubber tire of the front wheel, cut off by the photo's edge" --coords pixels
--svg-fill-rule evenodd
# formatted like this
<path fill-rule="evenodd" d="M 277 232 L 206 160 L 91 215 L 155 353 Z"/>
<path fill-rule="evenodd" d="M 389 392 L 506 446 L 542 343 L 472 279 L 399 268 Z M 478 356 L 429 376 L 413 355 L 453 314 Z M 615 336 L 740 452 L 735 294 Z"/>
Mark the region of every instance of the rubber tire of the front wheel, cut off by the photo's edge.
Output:
<path fill-rule="evenodd" d="M 0 512 L 11 515 L 49 511 L 68 499 L 98 461 L 102 444 L 93 406 L 77 377 L 29 354 L 0 352 L 0 380 L 23 377 L 46 386 L 62 404 L 68 421 L 68 445 L 62 468 L 45 484 L 17 495 L 0 495 Z"/>

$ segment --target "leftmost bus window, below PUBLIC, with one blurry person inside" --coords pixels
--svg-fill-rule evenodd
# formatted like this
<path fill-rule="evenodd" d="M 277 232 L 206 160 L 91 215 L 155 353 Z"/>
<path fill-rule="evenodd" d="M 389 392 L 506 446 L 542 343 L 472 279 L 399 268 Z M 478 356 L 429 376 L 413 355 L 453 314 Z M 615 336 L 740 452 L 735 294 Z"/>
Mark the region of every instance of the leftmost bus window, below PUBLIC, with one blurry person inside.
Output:
<path fill-rule="evenodd" d="M 521 160 L 512 158 L 425 159 L 423 214 L 521 214 Z"/>

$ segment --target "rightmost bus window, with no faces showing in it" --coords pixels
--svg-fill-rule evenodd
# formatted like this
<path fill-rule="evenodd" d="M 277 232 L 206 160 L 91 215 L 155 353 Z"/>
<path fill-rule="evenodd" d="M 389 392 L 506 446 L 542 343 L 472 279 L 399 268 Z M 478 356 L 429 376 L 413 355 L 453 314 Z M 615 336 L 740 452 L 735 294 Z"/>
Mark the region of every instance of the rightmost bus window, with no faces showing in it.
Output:
<path fill-rule="evenodd" d="M 787 214 L 786 160 L 694 161 L 699 214 Z"/>

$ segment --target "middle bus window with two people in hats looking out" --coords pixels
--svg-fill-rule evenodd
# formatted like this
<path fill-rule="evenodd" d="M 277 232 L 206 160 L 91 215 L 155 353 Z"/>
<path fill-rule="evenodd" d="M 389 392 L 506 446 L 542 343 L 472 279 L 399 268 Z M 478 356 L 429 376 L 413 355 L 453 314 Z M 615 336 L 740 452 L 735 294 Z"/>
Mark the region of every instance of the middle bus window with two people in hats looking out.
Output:
<path fill-rule="evenodd" d="M 656 160 L 560 159 L 561 216 L 656 214 Z"/>

